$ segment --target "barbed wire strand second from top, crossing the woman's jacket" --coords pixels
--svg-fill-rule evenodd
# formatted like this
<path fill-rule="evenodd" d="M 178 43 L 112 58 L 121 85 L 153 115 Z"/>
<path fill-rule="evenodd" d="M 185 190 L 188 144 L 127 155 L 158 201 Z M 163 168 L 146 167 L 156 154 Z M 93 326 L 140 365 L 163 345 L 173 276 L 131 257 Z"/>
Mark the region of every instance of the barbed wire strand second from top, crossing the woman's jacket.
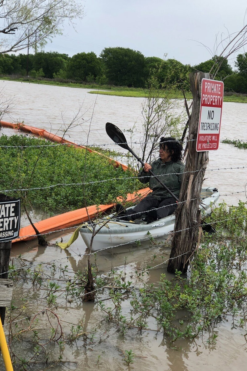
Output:
<path fill-rule="evenodd" d="M 237 166 L 237 167 L 223 167 L 223 168 L 215 168 L 215 169 L 206 169 L 206 171 L 220 171 L 220 170 L 240 170 L 245 169 L 247 166 Z M 184 171 L 183 174 L 193 174 L 198 173 L 199 171 L 204 171 L 204 169 L 194 170 L 194 171 Z M 168 175 L 180 175 L 181 173 L 168 173 L 168 174 L 159 174 L 156 175 L 156 177 L 164 177 Z M 155 175 L 148 176 L 149 178 L 154 178 Z M 103 179 L 103 180 L 95 180 L 90 182 L 83 182 L 83 183 L 56 183 L 52 185 L 46 185 L 45 187 L 34 187 L 34 188 L 13 188 L 9 190 L 0 190 L 0 193 L 7 193 L 7 192 L 16 192 L 16 191 L 34 191 L 34 190 L 42 190 L 42 189 L 50 189 L 54 187 L 71 187 L 73 185 L 89 185 L 89 184 L 96 184 L 96 183 L 106 183 L 109 181 L 115 181 L 115 180 L 127 180 L 127 179 L 137 179 L 136 176 L 133 177 L 122 177 L 122 178 L 111 178 L 111 179 Z M 148 183 L 148 182 L 147 182 Z"/>

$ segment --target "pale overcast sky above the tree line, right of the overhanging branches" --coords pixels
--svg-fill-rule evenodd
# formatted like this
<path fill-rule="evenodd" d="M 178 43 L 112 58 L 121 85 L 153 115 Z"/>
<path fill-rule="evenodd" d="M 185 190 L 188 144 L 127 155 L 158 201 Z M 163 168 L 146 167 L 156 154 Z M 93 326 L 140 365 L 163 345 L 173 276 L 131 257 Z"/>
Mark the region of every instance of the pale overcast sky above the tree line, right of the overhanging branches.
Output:
<path fill-rule="evenodd" d="M 45 51 L 99 56 L 104 47 L 121 46 L 195 65 L 211 58 L 200 43 L 214 53 L 217 34 L 219 43 L 247 23 L 246 6 L 246 0 L 85 0 L 77 32 L 66 26 Z"/>

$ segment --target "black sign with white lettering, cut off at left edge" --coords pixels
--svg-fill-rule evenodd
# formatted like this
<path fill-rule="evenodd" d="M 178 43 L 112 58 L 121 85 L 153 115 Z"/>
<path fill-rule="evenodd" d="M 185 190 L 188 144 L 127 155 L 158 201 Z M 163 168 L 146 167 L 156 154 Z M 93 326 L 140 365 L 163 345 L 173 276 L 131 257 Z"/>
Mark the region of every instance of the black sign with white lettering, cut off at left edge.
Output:
<path fill-rule="evenodd" d="M 0 201 L 0 242 L 16 239 L 19 231 L 20 198 Z"/>

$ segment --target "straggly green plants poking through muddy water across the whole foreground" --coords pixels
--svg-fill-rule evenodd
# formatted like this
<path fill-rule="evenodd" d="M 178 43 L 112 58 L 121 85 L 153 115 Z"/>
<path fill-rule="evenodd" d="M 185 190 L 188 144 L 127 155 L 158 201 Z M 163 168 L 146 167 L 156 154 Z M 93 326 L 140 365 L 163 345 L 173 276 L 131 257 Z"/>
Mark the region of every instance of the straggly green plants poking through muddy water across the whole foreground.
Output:
<path fill-rule="evenodd" d="M 109 331 L 112 327 L 126 339 L 135 330 L 139 336 L 145 331 L 163 332 L 171 347 L 179 339 L 197 338 L 202 331 L 204 336 L 207 334 L 208 345 L 215 347 L 217 324 L 229 318 L 234 328 L 239 326 L 246 334 L 246 203 L 240 201 L 238 206 L 231 207 L 222 203 L 207 222 L 217 233 L 202 236 L 187 277 L 177 271 L 172 279 L 168 278 L 164 252 L 154 253 L 152 249 L 149 260 L 131 275 L 126 258 L 121 269 L 112 266 L 107 273 L 102 273 L 101 267 L 97 269 L 92 261 L 99 321 L 96 328 L 88 326 L 89 332 L 85 330 L 88 314 L 84 311 L 79 321 L 76 317 L 69 318 L 67 327 L 62 321 L 62 308 L 70 311 L 82 307 L 88 278 L 86 257 L 78 255 L 83 259 L 84 269 L 61 265 L 60 260 L 58 263 L 39 261 L 35 265 L 22 256 L 15 257 L 9 273 L 14 281 L 14 296 L 6 317 L 13 362 L 25 370 L 27 364 L 34 367 L 44 360 L 54 361 L 55 355 L 61 361 L 65 348 L 82 340 L 89 346 L 99 344 L 102 331 L 105 333 L 106 328 Z M 154 243 L 150 241 L 152 247 Z M 165 244 L 164 249 L 168 246 Z M 93 257 L 96 258 L 96 254 Z M 149 283 L 149 274 L 156 267 L 164 267 L 164 272 L 159 280 Z M 37 313 L 34 305 L 38 305 Z M 58 307 L 61 308 L 59 315 L 56 313 Z M 20 344 L 29 347 L 25 357 Z M 126 351 L 124 356 L 124 361 L 131 364 L 133 351 Z"/>

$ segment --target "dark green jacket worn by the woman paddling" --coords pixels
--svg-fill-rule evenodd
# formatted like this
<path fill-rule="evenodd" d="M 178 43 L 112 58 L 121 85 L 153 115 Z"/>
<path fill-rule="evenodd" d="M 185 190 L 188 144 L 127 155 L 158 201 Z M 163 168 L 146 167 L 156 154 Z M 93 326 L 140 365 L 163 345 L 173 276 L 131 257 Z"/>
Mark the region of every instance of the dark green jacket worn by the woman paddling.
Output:
<path fill-rule="evenodd" d="M 184 164 L 181 161 L 162 162 L 158 158 L 151 165 L 153 173 L 159 177 L 175 196 L 179 197 Z M 153 190 L 152 194 L 158 199 L 172 197 L 150 173 L 145 173 L 141 170 L 138 178 L 142 183 L 148 183 L 149 181 L 149 188 Z"/>

